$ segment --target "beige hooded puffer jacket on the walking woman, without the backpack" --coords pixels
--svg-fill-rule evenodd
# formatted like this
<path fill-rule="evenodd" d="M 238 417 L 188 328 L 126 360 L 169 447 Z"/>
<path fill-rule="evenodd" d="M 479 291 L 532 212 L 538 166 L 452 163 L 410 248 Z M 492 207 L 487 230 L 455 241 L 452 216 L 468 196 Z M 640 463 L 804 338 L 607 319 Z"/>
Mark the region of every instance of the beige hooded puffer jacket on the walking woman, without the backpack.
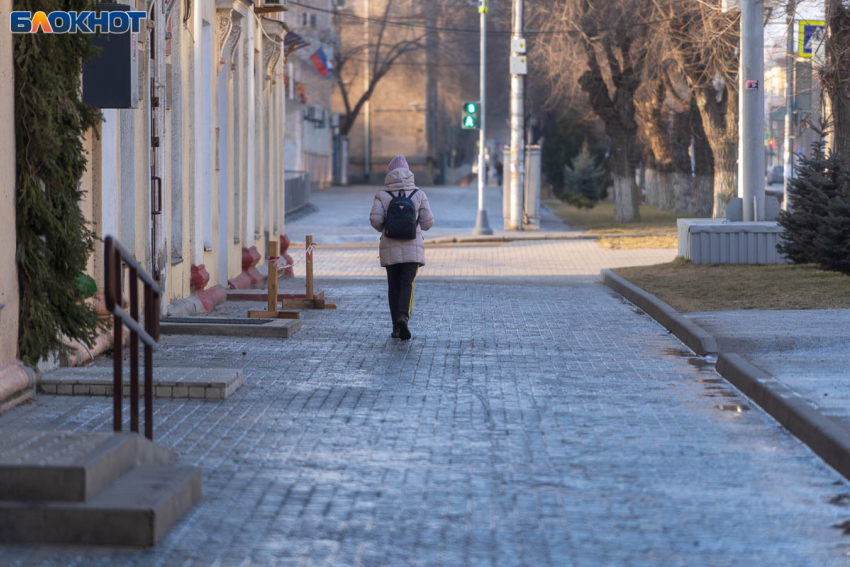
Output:
<path fill-rule="evenodd" d="M 372 212 L 369 214 L 369 221 L 372 226 L 381 233 L 381 266 L 406 262 L 417 262 L 420 266 L 424 266 L 425 240 L 422 238 L 422 231 L 428 230 L 434 225 L 434 215 L 431 214 L 428 197 L 422 189 L 419 189 L 410 198 L 418 211 L 419 226 L 416 227 L 416 238 L 414 240 L 387 238 L 383 232 L 390 201 L 398 191 L 410 192 L 417 187 L 413 184 L 413 173 L 406 168 L 394 169 L 387 173 L 384 185 L 385 187 L 375 194 Z M 392 195 L 387 191 L 391 191 Z"/>

